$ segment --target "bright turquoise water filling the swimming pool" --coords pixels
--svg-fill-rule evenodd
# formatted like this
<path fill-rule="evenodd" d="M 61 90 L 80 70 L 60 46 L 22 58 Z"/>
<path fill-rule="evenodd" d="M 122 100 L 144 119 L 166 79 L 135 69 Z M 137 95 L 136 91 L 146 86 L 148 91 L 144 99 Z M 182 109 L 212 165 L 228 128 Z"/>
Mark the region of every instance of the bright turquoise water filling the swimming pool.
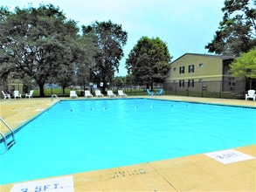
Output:
<path fill-rule="evenodd" d="M 255 117 L 253 108 L 156 99 L 60 101 L 0 155 L 0 184 L 255 144 Z"/>

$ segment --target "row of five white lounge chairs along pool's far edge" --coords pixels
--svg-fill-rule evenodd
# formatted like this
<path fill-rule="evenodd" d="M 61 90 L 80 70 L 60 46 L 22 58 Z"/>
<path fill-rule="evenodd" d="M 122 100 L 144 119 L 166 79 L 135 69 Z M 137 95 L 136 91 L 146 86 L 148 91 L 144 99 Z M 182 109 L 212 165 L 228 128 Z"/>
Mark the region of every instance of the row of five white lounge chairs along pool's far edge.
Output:
<path fill-rule="evenodd" d="M 118 90 L 118 96 L 119 97 L 127 97 L 128 95 L 126 93 L 123 93 L 122 90 Z M 85 91 L 85 97 L 86 98 L 93 98 L 93 94 L 89 91 Z M 95 90 L 95 97 L 104 97 L 104 94 L 100 92 L 100 90 Z M 107 90 L 107 97 L 114 98 L 116 97 L 116 94 L 113 93 L 112 90 Z M 75 91 L 70 91 L 70 98 L 78 98 L 78 95 Z"/>

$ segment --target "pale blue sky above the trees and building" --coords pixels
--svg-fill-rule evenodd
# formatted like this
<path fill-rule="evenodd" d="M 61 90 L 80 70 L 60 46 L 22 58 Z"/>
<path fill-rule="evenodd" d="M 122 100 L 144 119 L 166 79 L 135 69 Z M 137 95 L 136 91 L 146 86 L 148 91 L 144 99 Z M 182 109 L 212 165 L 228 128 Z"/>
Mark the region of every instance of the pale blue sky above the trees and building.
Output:
<path fill-rule="evenodd" d="M 79 26 L 96 20 L 121 24 L 128 31 L 128 42 L 117 76 L 127 74 L 125 59 L 142 36 L 161 38 L 168 45 L 171 61 L 187 52 L 208 53 L 204 46 L 218 30 L 224 7 L 224 0 L 1 0 L 0 6 L 11 10 L 40 3 L 59 6 Z"/>

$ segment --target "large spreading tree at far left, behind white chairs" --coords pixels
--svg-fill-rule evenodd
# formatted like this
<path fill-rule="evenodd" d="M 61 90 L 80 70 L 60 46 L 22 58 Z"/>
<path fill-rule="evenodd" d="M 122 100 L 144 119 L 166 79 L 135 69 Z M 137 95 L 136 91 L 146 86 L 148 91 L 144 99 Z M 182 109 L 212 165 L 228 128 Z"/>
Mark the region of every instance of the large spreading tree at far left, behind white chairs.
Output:
<path fill-rule="evenodd" d="M 73 41 L 79 39 L 73 20 L 67 20 L 52 4 L 38 9 L 17 7 L 14 13 L 2 8 L 1 15 L 5 17 L 1 17 L 0 53 L 8 58 L 0 63 L 4 72 L 31 77 L 39 86 L 40 96 L 45 95 L 45 83 L 57 79 L 59 72 L 70 77 L 70 65 L 76 60 Z"/>

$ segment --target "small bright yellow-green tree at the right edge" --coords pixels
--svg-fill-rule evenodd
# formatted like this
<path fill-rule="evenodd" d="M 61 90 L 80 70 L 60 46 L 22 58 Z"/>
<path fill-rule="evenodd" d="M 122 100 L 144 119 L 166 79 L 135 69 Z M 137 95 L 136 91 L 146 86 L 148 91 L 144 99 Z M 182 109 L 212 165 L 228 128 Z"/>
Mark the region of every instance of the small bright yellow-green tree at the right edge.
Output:
<path fill-rule="evenodd" d="M 230 65 L 232 76 L 238 79 L 256 79 L 256 48 L 243 53 L 240 58 L 236 58 Z M 251 83 L 250 83 L 251 88 Z"/>

